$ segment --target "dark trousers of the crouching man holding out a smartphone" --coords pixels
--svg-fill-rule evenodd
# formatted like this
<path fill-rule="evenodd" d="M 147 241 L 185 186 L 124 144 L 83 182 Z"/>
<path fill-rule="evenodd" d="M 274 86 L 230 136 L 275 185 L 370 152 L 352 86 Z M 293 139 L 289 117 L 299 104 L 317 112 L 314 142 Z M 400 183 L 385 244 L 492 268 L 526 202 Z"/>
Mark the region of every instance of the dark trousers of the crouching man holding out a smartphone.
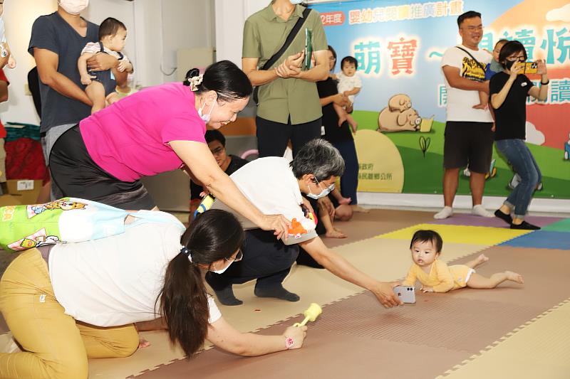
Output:
<path fill-rule="evenodd" d="M 257 279 L 256 288 L 280 286 L 299 255 L 299 247 L 285 245 L 271 230 L 254 229 L 245 232 L 242 252 L 243 259 L 232 263 L 223 274 L 207 273 L 208 284 L 215 291 L 253 279 Z"/>

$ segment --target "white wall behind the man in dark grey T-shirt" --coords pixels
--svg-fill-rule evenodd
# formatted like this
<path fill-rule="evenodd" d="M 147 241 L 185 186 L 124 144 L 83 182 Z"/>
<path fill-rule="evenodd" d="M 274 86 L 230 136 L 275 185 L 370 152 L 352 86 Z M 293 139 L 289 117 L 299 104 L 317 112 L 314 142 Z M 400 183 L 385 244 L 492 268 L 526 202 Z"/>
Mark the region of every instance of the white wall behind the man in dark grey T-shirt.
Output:
<path fill-rule="evenodd" d="M 4 4 L 6 36 L 18 61 L 15 70 L 4 68 L 10 81 L 9 101 L 0 105 L 4 122 L 39 124 L 31 96 L 24 92 L 28 71 L 36 65 L 27 49 L 33 21 L 56 9 L 56 0 L 14 0 Z M 214 47 L 212 0 L 90 0 L 82 15 L 95 23 L 109 16 L 125 23 L 125 52 L 135 65 L 134 82 L 142 87 L 175 80 L 174 74 L 162 72 L 172 73 L 178 48 Z"/>

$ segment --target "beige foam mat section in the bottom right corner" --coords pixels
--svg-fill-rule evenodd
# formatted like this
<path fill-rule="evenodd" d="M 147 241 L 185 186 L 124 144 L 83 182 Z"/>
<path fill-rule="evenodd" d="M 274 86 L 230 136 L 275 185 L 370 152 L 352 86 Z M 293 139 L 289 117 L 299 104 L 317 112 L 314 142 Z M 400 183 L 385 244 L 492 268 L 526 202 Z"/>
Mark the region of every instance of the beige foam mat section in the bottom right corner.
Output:
<path fill-rule="evenodd" d="M 566 300 L 440 378 L 570 378 L 569 319 Z"/>

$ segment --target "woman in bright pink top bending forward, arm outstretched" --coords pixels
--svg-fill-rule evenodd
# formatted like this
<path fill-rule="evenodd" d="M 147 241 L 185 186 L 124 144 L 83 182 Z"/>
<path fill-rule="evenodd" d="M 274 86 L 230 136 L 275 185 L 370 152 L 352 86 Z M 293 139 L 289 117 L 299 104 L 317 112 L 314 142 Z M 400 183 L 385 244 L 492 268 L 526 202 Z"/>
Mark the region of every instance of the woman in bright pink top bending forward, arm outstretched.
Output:
<path fill-rule="evenodd" d="M 204 139 L 206 125 L 219 129 L 234 121 L 251 93 L 247 75 L 223 60 L 204 75 L 193 69 L 182 83 L 125 97 L 59 137 L 50 154 L 53 181 L 64 196 L 152 209 L 140 178 L 185 169 L 222 202 L 281 237 L 289 221 L 259 212 L 219 168 Z"/>

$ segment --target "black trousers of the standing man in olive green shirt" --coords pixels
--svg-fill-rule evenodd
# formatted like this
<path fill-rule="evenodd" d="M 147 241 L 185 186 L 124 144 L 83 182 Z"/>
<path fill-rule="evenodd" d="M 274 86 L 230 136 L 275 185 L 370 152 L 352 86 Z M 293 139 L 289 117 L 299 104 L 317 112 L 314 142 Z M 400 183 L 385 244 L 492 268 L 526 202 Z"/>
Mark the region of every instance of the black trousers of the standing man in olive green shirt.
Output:
<path fill-rule="evenodd" d="M 321 119 L 316 119 L 304 124 L 291 125 L 291 119 L 287 124 L 273 122 L 261 117 L 255 118 L 257 127 L 257 149 L 259 158 L 264 156 L 283 156 L 287 142 L 291 139 L 293 156 L 311 139 L 321 137 Z"/>

